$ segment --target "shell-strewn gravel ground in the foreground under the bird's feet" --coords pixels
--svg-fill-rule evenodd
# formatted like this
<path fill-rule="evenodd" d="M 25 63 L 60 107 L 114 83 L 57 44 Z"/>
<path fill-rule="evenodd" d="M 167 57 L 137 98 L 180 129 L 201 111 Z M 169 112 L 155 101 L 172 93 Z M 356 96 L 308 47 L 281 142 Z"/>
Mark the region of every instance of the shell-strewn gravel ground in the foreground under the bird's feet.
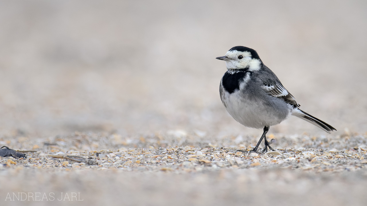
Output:
<path fill-rule="evenodd" d="M 248 156 L 236 150 L 250 149 L 246 145 L 254 145 L 254 137 L 209 143 L 183 131 L 177 135 L 142 136 L 130 143 L 116 134 L 93 133 L 4 139 L 1 144 L 29 152 L 26 159 L 0 158 L 1 198 L 10 202 L 18 192 L 26 192 L 22 198 L 28 205 L 49 205 L 48 201 L 55 205 L 72 201 L 75 205 L 363 205 L 367 201 L 366 135 L 290 139 L 271 134 L 279 154 Z M 91 158 L 98 165 L 51 155 Z M 28 202 L 36 195 L 43 201 Z M 11 203 L 17 205 L 15 200 Z"/>

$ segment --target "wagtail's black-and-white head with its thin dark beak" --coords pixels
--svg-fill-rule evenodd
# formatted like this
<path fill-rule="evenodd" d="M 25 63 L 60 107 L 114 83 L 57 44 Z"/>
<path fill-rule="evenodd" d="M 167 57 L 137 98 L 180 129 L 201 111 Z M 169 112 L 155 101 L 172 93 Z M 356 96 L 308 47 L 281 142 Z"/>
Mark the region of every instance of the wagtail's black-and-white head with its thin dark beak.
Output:
<path fill-rule="evenodd" d="M 261 59 L 254 49 L 248 47 L 232 47 L 225 56 L 216 59 L 225 60 L 227 69 L 247 69 L 257 71 L 261 68 Z"/>

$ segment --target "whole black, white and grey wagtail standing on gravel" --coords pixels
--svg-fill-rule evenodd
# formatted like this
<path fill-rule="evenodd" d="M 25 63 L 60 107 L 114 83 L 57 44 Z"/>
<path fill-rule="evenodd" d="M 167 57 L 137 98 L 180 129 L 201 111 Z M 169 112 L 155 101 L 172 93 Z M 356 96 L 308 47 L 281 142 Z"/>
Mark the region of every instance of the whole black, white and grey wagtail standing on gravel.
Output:
<path fill-rule="evenodd" d="M 257 145 L 247 155 L 257 152 L 262 139 L 263 153 L 268 152 L 268 148 L 275 151 L 270 147 L 272 140 L 266 139 L 266 133 L 270 126 L 279 124 L 291 115 L 304 119 L 327 133 L 336 131 L 326 122 L 302 111 L 294 96 L 281 84 L 273 71 L 264 65 L 254 49 L 232 47 L 225 56 L 216 59 L 224 60 L 227 66 L 221 79 L 219 94 L 228 113 L 244 126 L 264 129 Z"/>

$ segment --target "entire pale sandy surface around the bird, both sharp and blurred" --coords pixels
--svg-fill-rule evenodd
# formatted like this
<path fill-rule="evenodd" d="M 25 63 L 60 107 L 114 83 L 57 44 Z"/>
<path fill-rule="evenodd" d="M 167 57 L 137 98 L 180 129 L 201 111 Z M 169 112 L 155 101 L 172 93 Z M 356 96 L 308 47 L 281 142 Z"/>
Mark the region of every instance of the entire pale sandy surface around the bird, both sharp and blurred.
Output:
<path fill-rule="evenodd" d="M 33 152 L 0 158 L 0 204 L 364 205 L 366 9 L 1 2 L 0 146 Z M 225 65 L 215 57 L 236 45 L 256 49 L 301 109 L 338 131 L 291 117 L 268 133 L 280 155 L 237 152 L 262 131 L 233 120 L 219 98 Z M 7 199 L 22 192 L 83 201 Z"/>

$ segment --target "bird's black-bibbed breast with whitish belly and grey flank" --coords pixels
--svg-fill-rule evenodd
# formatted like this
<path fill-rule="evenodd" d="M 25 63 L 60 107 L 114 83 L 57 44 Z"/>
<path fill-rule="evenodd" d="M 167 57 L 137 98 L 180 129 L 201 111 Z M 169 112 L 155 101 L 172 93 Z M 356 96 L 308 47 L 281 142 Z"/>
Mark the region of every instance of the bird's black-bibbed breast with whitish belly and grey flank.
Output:
<path fill-rule="evenodd" d="M 239 123 L 252 128 L 279 124 L 291 108 L 258 88 L 250 73 L 225 74 L 220 85 L 221 100 L 228 113 Z"/>

